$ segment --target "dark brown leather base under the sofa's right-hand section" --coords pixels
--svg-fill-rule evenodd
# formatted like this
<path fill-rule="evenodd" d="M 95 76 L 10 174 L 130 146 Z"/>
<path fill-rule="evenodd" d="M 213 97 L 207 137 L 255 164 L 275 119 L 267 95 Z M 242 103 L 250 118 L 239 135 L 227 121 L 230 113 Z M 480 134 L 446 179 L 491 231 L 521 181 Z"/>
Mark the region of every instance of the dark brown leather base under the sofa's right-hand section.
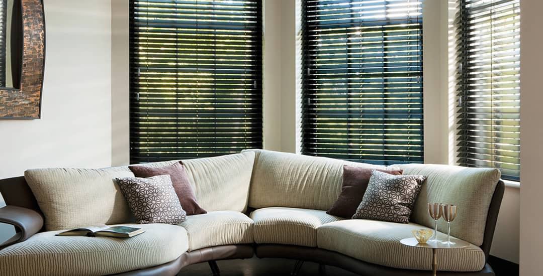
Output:
<path fill-rule="evenodd" d="M 386 275 L 386 276 L 427 276 L 430 271 L 398 269 L 386 266 L 370 264 L 341 253 L 326 249 L 291 246 L 291 245 L 257 245 L 255 253 L 258 258 L 281 258 L 300 261 L 317 262 L 322 265 L 343 268 L 346 271 L 359 275 Z M 439 266 L 438 266 L 439 268 Z M 478 272 L 438 272 L 438 275 L 446 276 L 495 276 L 490 265 L 486 264 Z"/>

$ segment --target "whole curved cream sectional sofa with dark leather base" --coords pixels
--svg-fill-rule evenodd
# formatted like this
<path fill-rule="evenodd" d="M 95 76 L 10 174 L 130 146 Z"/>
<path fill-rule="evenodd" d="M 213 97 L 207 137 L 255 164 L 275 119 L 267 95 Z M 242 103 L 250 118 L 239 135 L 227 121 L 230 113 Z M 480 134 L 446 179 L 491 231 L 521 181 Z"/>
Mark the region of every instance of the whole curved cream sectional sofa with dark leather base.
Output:
<path fill-rule="evenodd" d="M 164 166 L 173 162 L 150 163 Z M 438 253 L 443 275 L 494 275 L 487 264 L 503 182 L 495 169 L 394 165 L 428 176 L 411 223 L 345 220 L 326 214 L 340 192 L 343 165 L 382 166 L 266 150 L 182 161 L 207 214 L 179 225 L 137 224 L 131 239 L 54 236 L 91 223 L 132 225 L 113 177 L 127 166 L 99 170 L 37 169 L 0 180 L 8 204 L 0 222 L 17 229 L 0 245 L 0 275 L 176 275 L 216 260 L 290 258 L 362 275 L 426 275 L 431 251 L 400 245 L 411 230 L 432 227 L 428 202 L 459 206 L 451 234 L 471 243 Z M 132 223 L 132 224 L 131 224 Z M 438 224 L 446 231 L 443 221 Z M 443 236 L 444 234 L 441 233 Z"/>

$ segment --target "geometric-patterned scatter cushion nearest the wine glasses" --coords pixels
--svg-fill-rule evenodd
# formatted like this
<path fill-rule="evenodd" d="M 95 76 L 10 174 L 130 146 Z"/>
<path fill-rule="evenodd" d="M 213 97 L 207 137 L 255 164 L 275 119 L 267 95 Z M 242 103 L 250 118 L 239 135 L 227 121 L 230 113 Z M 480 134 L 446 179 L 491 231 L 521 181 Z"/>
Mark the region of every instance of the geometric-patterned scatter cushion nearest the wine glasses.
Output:
<path fill-rule="evenodd" d="M 368 189 L 352 218 L 409 223 L 425 179 L 422 175 L 395 176 L 373 170 Z"/>

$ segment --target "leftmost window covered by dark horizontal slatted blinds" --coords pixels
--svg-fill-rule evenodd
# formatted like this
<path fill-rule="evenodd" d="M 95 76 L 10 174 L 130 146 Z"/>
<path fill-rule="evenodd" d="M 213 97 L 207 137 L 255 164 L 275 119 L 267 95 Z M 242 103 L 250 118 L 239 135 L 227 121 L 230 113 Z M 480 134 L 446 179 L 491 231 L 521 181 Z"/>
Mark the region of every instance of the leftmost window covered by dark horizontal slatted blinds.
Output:
<path fill-rule="evenodd" d="M 261 1 L 132 0 L 130 14 L 130 162 L 261 148 Z"/>

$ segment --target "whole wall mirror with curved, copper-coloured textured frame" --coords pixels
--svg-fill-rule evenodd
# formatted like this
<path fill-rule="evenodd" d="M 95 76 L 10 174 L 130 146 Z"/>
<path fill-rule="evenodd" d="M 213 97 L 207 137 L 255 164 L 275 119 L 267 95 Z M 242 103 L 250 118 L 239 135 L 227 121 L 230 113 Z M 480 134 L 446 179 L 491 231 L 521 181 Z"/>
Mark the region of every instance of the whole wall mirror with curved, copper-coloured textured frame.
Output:
<path fill-rule="evenodd" d="M 0 0 L 0 119 L 40 119 L 43 0 Z"/>

